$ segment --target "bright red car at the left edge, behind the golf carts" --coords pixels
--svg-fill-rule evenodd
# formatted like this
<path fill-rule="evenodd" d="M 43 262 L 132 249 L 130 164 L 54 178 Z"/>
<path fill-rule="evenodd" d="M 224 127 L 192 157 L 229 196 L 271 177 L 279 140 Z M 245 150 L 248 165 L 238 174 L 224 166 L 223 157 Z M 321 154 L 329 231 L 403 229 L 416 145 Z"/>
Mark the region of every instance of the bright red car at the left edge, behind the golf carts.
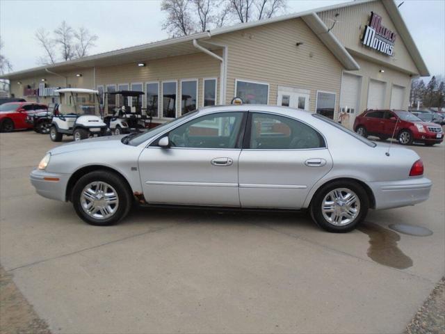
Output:
<path fill-rule="evenodd" d="M 10 102 L 0 106 L 0 132 L 10 132 L 15 129 L 32 129 L 33 125 L 26 122 L 26 116 L 46 111 L 45 104 L 32 102 Z"/>

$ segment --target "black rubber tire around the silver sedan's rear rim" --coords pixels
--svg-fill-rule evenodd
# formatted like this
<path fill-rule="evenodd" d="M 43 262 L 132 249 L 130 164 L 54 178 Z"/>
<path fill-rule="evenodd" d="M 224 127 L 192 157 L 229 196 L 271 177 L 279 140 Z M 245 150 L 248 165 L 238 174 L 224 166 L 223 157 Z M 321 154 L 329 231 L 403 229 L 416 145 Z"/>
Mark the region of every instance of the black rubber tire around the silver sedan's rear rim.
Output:
<path fill-rule="evenodd" d="M 325 196 L 327 196 L 327 194 L 334 189 L 348 189 L 349 191 L 353 191 L 359 199 L 359 211 L 357 216 L 355 216 L 352 221 L 345 223 L 345 225 L 334 225 L 333 223 L 330 223 L 330 221 L 328 221 L 323 215 L 323 200 L 325 199 Z M 318 191 L 315 193 L 314 198 L 312 198 L 309 208 L 312 219 L 318 226 L 324 230 L 327 230 L 328 232 L 336 233 L 344 233 L 354 230 L 359 223 L 364 221 L 366 214 L 368 214 L 368 209 L 368 194 L 360 184 L 349 180 L 334 181 L 322 186 L 321 189 L 318 189 Z"/>

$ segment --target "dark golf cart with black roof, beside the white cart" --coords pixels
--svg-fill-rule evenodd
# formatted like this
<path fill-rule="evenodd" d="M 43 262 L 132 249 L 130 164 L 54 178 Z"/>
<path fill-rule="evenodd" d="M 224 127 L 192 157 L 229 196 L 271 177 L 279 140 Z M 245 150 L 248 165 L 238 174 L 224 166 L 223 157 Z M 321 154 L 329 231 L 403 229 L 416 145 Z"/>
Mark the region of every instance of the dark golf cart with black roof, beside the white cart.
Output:
<path fill-rule="evenodd" d="M 111 115 L 108 113 L 104 118 L 104 122 L 111 129 L 114 134 L 128 134 L 129 132 L 140 132 L 146 127 L 149 127 L 152 117 L 147 116 L 146 109 L 142 106 L 142 96 L 144 92 L 136 90 L 118 90 L 117 92 L 106 93 L 119 97 L 119 107 L 115 108 Z M 108 98 L 104 99 L 106 102 L 105 110 L 108 111 Z"/>

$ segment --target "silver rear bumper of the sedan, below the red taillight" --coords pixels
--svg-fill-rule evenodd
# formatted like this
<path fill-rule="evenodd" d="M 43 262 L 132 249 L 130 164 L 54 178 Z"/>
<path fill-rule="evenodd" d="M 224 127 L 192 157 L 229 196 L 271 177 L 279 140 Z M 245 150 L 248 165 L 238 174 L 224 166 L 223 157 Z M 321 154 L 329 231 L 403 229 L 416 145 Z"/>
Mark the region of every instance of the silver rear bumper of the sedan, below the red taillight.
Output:
<path fill-rule="evenodd" d="M 369 182 L 375 197 L 375 209 L 405 207 L 428 200 L 432 182 L 426 177 L 403 181 Z"/>

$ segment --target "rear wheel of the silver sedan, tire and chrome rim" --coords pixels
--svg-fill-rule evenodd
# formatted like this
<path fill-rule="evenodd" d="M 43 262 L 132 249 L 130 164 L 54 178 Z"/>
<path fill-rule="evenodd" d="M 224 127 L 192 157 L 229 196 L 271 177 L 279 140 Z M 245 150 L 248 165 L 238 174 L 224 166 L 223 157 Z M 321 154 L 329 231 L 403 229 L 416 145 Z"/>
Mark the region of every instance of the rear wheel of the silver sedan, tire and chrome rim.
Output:
<path fill-rule="evenodd" d="M 349 232 L 361 223 L 369 209 L 366 191 L 357 182 L 335 181 L 319 189 L 312 198 L 314 221 L 329 232 Z"/>

